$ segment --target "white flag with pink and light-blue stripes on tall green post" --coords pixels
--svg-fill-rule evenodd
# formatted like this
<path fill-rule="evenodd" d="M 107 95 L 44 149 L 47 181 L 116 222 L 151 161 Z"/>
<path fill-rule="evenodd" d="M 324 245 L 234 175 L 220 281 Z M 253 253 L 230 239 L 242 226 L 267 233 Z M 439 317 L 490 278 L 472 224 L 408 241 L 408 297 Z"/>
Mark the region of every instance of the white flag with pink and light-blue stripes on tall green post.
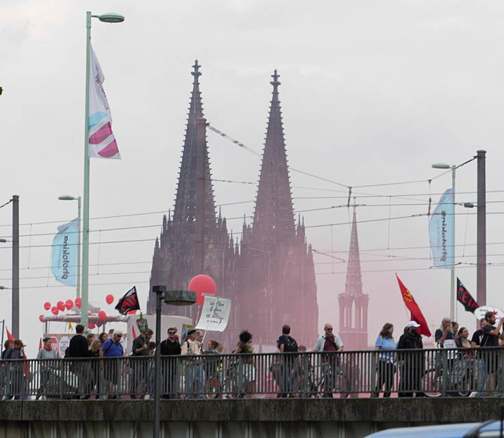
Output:
<path fill-rule="evenodd" d="M 121 158 L 116 138 L 112 132 L 112 116 L 107 95 L 103 89 L 105 76 L 101 71 L 95 51 L 91 50 L 89 66 L 89 156 Z"/>

